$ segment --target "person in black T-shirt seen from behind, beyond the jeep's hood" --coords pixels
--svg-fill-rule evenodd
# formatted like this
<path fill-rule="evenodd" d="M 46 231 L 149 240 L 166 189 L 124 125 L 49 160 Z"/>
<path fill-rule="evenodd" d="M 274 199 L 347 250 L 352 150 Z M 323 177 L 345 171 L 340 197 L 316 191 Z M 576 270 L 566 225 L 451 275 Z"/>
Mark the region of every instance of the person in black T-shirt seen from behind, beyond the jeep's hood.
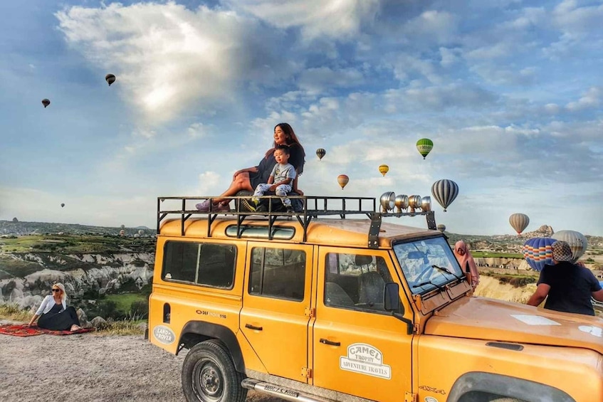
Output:
<path fill-rule="evenodd" d="M 569 243 L 557 240 L 551 248 L 554 264 L 542 268 L 536 291 L 527 304 L 538 306 L 546 298 L 545 309 L 594 315 L 591 296 L 603 302 L 603 289 L 597 278 L 588 268 L 572 263 Z"/>

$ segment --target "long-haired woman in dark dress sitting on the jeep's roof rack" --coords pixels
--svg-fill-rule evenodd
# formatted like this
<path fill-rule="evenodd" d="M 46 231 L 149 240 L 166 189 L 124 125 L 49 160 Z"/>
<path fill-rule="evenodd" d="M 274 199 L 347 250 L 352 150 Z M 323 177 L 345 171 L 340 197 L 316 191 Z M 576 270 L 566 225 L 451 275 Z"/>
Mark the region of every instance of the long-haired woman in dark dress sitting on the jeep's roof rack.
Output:
<path fill-rule="evenodd" d="M 295 171 L 297 172 L 297 176 L 291 185 L 293 189 L 292 191 L 295 194 L 303 196 L 303 191 L 298 189 L 298 179 L 303 173 L 305 151 L 300 144 L 298 137 L 295 135 L 293 127 L 288 125 L 288 123 L 278 123 L 278 125 L 274 127 L 273 147 L 268 149 L 265 156 L 257 166 L 241 169 L 234 173 L 229 188 L 226 189 L 224 193 L 220 194 L 220 198 L 212 200 L 213 206 L 211 207 L 211 211 L 229 211 L 230 199 L 224 197 L 234 196 L 238 193 L 238 191 L 241 190 L 252 192 L 256 189 L 258 184 L 266 183 L 274 165 L 276 165 L 276 159 L 274 159 L 274 150 L 280 144 L 289 146 L 289 163 L 295 167 Z M 209 200 L 197 203 L 196 208 L 201 212 L 209 211 Z"/>

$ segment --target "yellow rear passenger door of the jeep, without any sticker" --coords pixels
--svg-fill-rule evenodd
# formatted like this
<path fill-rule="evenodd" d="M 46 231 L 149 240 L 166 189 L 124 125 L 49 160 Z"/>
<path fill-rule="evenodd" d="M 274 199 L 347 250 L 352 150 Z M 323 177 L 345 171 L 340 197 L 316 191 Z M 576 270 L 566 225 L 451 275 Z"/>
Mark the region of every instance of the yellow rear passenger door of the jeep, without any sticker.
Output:
<path fill-rule="evenodd" d="M 268 374 L 305 381 L 313 248 L 249 242 L 241 331 Z"/>

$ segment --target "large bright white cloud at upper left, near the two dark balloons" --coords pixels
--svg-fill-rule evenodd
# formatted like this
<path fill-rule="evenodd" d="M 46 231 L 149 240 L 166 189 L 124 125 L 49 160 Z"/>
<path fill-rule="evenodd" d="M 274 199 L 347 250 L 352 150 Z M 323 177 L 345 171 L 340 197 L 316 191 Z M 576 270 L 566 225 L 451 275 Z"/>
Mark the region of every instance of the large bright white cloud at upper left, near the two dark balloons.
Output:
<path fill-rule="evenodd" d="M 67 43 L 95 68 L 117 75 L 122 91 L 149 123 L 176 117 L 192 105 L 213 110 L 236 100 L 253 78 L 278 80 L 294 63 L 276 63 L 266 33 L 232 11 L 166 4 L 73 6 L 56 14 Z M 272 81 L 271 81 L 272 82 Z"/>

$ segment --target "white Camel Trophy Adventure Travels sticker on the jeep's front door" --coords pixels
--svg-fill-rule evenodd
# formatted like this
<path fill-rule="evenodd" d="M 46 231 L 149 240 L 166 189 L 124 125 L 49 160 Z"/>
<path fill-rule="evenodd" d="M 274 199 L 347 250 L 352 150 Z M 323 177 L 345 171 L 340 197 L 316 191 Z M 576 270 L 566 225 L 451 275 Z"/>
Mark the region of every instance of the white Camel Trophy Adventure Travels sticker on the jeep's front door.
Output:
<path fill-rule="evenodd" d="M 347 347 L 347 356 L 339 359 L 340 369 L 360 374 L 392 379 L 392 367 L 383 364 L 383 354 L 369 344 L 351 344 Z"/>

